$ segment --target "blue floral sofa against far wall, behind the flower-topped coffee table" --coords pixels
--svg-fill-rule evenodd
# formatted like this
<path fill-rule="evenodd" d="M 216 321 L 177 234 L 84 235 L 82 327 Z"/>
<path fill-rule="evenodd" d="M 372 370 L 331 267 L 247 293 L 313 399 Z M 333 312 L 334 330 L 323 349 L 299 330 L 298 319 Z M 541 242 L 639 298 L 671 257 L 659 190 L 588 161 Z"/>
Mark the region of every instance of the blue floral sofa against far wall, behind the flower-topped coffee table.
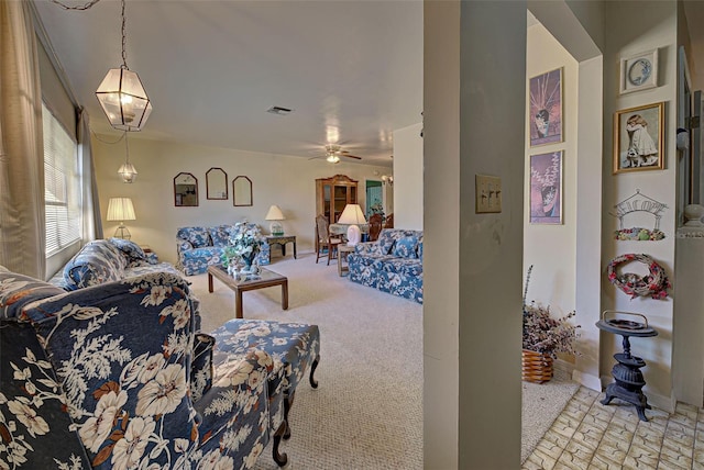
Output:
<path fill-rule="evenodd" d="M 211 227 L 193 226 L 178 228 L 176 232 L 178 269 L 186 276 L 206 272 L 209 265 L 218 265 L 221 262 L 222 253 L 226 246 L 228 246 L 230 238 L 246 228 L 255 228 L 261 233 L 258 225 L 248 222 Z M 264 243 L 261 248 L 256 257 L 256 262 L 258 265 L 268 265 L 270 246 Z"/>

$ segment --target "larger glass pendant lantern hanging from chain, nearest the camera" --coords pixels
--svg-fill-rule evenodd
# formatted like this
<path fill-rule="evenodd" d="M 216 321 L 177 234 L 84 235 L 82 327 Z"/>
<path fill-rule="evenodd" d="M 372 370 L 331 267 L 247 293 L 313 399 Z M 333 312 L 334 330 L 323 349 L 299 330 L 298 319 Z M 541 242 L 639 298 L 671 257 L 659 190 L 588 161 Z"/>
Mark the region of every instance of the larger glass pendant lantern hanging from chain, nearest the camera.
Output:
<path fill-rule="evenodd" d="M 120 131 L 141 131 L 152 113 L 142 81 L 128 67 L 124 0 L 122 0 L 122 65 L 111 68 L 96 90 L 102 111 L 110 124 Z"/>

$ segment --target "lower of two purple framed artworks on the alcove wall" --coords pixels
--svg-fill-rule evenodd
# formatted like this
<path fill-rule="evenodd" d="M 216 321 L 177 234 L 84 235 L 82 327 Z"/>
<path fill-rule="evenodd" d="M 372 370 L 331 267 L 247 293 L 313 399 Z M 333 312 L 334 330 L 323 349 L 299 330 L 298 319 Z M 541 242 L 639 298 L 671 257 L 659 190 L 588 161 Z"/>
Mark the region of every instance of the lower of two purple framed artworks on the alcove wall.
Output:
<path fill-rule="evenodd" d="M 530 156 L 530 223 L 562 223 L 562 157 L 564 150 Z"/>

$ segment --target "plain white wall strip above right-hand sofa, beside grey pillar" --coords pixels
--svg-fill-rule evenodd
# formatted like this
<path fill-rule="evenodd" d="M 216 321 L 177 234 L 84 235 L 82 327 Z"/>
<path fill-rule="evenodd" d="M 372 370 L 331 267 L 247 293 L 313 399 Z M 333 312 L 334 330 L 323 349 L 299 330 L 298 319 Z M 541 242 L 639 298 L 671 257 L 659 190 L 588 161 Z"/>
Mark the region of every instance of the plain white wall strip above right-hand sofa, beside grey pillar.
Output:
<path fill-rule="evenodd" d="M 394 131 L 394 227 L 422 230 L 422 123 Z"/>

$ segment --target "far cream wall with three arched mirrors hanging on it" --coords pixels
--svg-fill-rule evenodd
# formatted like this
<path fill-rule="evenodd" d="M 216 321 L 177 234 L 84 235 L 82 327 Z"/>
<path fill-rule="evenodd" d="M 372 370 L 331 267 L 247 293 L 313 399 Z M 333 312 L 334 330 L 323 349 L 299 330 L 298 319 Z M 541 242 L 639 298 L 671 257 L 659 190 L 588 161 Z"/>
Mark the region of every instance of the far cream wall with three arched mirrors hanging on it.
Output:
<path fill-rule="evenodd" d="M 100 139 L 116 141 L 114 135 Z M 296 235 L 298 253 L 312 250 L 316 216 L 316 178 L 346 175 L 359 181 L 358 199 L 365 201 L 365 180 L 374 179 L 374 171 L 388 172 L 388 168 L 340 163 L 324 159 L 308 160 L 292 156 L 255 154 L 226 148 L 130 138 L 130 161 L 139 171 L 132 184 L 123 183 L 118 168 L 124 163 L 124 142 L 116 145 L 92 139 L 97 167 L 100 209 L 105 236 L 112 236 L 118 223 L 107 222 L 108 199 L 130 197 L 134 203 L 136 221 L 125 222 L 132 239 L 150 245 L 160 259 L 176 261 L 176 230 L 190 225 L 233 223 L 246 217 L 268 232 L 264 220 L 270 205 L 278 204 L 284 212 L 284 230 Z M 220 167 L 228 174 L 229 199 L 206 199 L 206 171 Z M 199 205 L 174 206 L 174 177 L 182 171 L 198 179 Z M 252 180 L 254 205 L 235 208 L 232 204 L 232 179 L 238 175 Z"/>

